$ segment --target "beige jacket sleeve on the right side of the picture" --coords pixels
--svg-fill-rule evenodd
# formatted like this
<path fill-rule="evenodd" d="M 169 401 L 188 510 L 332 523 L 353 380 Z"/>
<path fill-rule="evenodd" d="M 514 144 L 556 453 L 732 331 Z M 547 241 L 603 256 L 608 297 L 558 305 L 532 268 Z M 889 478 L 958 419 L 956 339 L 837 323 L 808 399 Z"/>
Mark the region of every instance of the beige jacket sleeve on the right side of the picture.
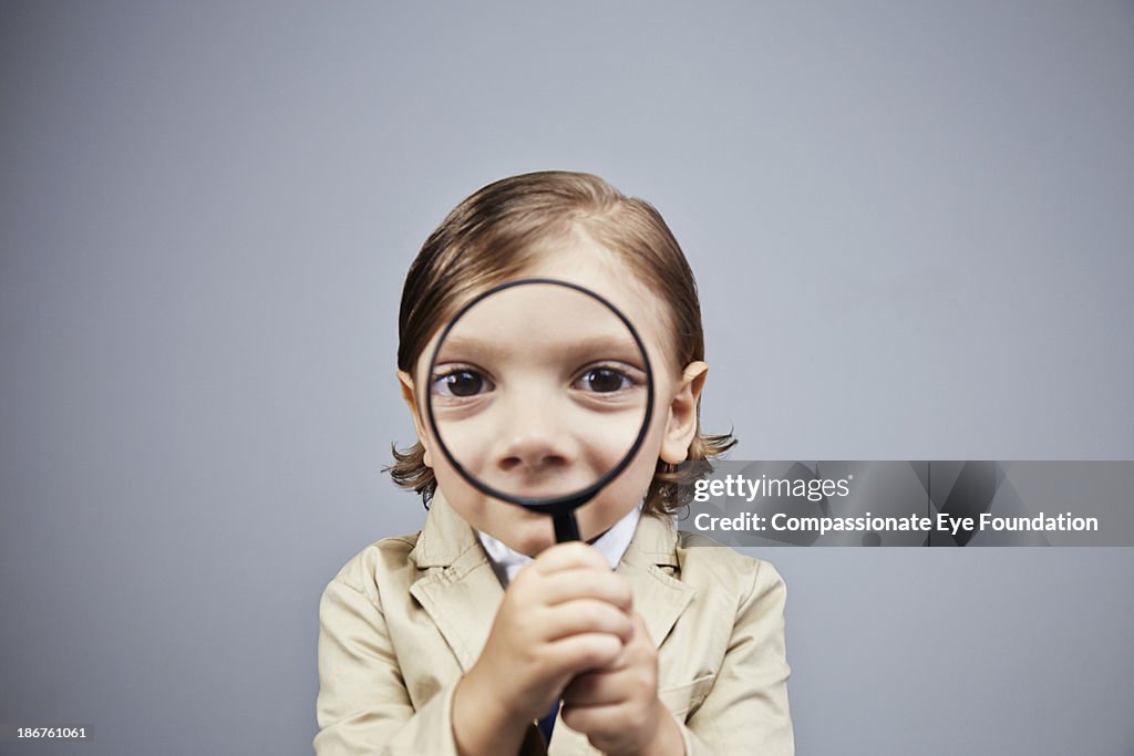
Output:
<path fill-rule="evenodd" d="M 686 756 L 795 753 L 784 647 L 786 598 L 787 587 L 776 568 L 756 561 L 713 687 L 679 723 Z"/>

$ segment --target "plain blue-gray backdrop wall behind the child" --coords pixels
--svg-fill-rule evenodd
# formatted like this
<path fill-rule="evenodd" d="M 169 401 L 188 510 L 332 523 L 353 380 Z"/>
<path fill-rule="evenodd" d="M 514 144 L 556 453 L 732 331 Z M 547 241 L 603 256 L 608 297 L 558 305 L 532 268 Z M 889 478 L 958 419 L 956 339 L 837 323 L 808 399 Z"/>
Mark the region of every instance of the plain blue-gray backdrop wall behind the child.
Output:
<path fill-rule="evenodd" d="M 302 754 L 420 527 L 397 298 L 544 168 L 662 211 L 737 459 L 1134 458 L 1134 7 L 0 3 L 0 721 Z M 802 754 L 1131 754 L 1134 550 L 776 550 Z M 5 753 L 48 747 L 0 746 Z"/>

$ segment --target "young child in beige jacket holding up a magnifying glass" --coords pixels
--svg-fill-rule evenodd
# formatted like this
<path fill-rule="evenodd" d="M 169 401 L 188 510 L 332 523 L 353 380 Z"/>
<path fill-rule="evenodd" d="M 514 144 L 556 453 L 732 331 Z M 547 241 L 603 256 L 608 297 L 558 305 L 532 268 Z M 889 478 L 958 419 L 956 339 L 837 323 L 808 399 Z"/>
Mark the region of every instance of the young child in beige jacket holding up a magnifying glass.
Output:
<path fill-rule="evenodd" d="M 601 295 L 637 324 L 654 366 L 645 441 L 577 510 L 577 543 L 555 545 L 550 518 L 471 486 L 423 417 L 425 392 L 491 393 L 476 365 L 428 375 L 428 355 L 464 303 L 518 278 Z M 527 345 L 507 350 L 516 320 L 493 333 L 501 350 L 533 369 L 553 364 Z M 369 546 L 327 587 L 316 751 L 793 753 L 782 580 L 674 525 L 688 475 L 677 465 L 733 440 L 700 431 L 708 368 L 696 289 L 657 211 L 582 173 L 489 185 L 414 261 L 399 338 L 418 443 L 395 452 L 392 476 L 430 511 L 421 533 Z M 501 479 L 569 473 L 599 455 L 600 435 L 534 408 L 484 439 L 483 460 Z"/>

